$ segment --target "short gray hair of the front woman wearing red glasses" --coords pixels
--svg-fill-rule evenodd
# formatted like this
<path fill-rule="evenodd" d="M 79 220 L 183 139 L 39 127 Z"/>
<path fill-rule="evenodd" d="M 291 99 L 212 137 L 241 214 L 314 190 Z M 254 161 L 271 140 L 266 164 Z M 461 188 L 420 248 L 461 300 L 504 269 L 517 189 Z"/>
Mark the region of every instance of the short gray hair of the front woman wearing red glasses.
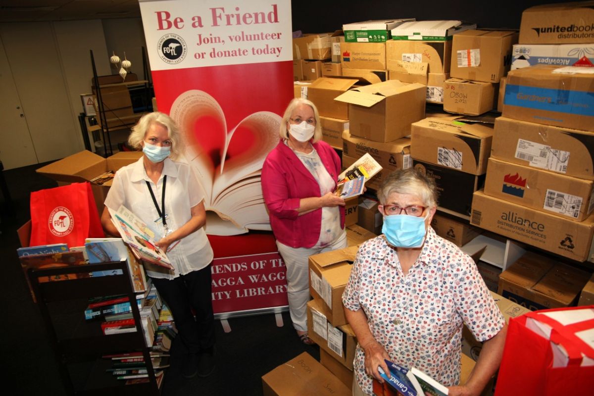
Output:
<path fill-rule="evenodd" d="M 414 168 L 394 170 L 377 191 L 380 204 L 387 203 L 390 194 L 416 195 L 427 207 L 437 207 L 437 186 L 435 180 Z"/>

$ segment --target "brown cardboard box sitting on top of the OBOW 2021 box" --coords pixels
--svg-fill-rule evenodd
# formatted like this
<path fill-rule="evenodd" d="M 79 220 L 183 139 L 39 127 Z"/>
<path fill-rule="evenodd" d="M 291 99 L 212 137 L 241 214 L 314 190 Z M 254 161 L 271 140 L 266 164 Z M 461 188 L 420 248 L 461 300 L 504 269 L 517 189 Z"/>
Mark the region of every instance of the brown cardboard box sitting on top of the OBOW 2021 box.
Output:
<path fill-rule="evenodd" d="M 517 31 L 466 30 L 454 36 L 451 77 L 499 83 L 511 67 Z"/>

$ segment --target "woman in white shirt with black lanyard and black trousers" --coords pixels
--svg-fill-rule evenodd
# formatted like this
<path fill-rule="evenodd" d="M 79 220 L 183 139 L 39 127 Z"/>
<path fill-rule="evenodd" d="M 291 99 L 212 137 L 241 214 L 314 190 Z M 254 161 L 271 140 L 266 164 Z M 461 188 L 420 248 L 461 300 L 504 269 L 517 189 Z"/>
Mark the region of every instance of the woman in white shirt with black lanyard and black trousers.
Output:
<path fill-rule="evenodd" d="M 167 252 L 174 270 L 147 263 L 145 269 L 170 308 L 185 347 L 182 375 L 210 375 L 214 369 L 213 249 L 203 228 L 203 188 L 191 167 L 178 161 L 184 147 L 182 135 L 168 115 L 144 115 L 132 128 L 128 143 L 144 155 L 116 172 L 105 199 L 103 228 L 118 235 L 108 208 L 116 211 L 124 205 L 154 232 L 155 245 Z"/>

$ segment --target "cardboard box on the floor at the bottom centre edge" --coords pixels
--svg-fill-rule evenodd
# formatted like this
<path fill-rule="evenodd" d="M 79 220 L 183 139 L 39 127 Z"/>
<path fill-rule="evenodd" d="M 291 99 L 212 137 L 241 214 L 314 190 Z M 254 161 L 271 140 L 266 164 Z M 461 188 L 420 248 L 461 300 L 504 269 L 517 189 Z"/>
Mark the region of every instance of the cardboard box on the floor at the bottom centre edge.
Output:
<path fill-rule="evenodd" d="M 264 396 L 351 396 L 352 391 L 307 352 L 262 376 Z"/>

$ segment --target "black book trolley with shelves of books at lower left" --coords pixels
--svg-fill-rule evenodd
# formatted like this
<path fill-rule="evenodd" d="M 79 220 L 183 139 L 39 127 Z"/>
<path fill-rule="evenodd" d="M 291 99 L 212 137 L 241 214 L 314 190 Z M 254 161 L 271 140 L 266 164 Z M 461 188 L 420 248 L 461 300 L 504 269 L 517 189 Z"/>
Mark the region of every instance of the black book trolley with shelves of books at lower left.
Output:
<path fill-rule="evenodd" d="M 92 268 L 92 270 L 91 270 Z M 64 274 L 84 274 L 90 271 L 121 271 L 102 277 L 75 278 L 61 281 L 40 281 Z M 33 292 L 37 299 L 48 337 L 55 353 L 58 370 L 68 394 L 72 395 L 159 395 L 159 387 L 151 365 L 150 351 L 144 340 L 140 311 L 125 261 L 105 264 L 78 265 L 29 270 Z M 101 321 L 87 321 L 84 310 L 89 297 L 123 294 L 131 302 L 135 332 L 104 335 Z M 106 370 L 112 360 L 103 359 L 110 353 L 141 352 L 144 357 L 147 382 L 125 385 Z"/>

